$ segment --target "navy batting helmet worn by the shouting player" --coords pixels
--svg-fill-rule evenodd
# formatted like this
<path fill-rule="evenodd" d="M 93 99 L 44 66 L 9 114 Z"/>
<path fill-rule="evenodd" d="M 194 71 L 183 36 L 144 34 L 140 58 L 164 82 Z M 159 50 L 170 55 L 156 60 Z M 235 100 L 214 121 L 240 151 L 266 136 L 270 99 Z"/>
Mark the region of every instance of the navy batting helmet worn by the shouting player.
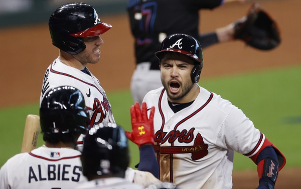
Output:
<path fill-rule="evenodd" d="M 172 34 L 162 41 L 160 49 L 155 52 L 155 55 L 162 59 L 163 55 L 170 51 L 185 54 L 195 60 L 196 65 L 191 71 L 191 79 L 193 82 L 198 82 L 203 68 L 203 52 L 200 42 L 187 34 Z"/>

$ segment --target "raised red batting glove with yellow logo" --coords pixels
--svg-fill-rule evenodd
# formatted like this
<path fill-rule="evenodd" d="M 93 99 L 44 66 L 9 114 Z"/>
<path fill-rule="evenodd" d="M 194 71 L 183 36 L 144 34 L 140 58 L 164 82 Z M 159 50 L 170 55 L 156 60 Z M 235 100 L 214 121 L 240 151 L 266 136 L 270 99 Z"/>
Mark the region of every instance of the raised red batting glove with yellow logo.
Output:
<path fill-rule="evenodd" d="M 146 103 L 142 102 L 141 109 L 138 102 L 130 107 L 130 117 L 132 131 L 125 131 L 126 137 L 138 145 L 154 145 L 154 114 L 155 107 L 150 108 L 149 118 L 147 118 Z"/>

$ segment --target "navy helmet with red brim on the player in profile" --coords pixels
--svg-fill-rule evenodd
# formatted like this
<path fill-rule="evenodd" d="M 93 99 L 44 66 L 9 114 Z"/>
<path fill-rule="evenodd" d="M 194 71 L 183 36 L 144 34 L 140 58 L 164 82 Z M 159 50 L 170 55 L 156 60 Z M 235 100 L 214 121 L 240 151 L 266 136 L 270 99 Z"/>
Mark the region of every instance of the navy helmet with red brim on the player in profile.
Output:
<path fill-rule="evenodd" d="M 100 21 L 93 6 L 81 2 L 57 8 L 48 25 L 52 44 L 69 54 L 77 54 L 86 48 L 80 37 L 100 35 L 112 27 Z"/>

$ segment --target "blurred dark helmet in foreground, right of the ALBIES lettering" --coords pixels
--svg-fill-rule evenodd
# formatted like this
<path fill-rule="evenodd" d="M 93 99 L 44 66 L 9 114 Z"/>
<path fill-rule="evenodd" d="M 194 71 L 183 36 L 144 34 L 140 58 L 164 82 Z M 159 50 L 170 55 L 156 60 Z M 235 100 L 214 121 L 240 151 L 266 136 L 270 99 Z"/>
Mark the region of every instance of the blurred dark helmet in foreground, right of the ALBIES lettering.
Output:
<path fill-rule="evenodd" d="M 129 149 L 124 130 L 115 123 L 94 125 L 84 138 L 83 174 L 121 174 L 129 164 Z"/>

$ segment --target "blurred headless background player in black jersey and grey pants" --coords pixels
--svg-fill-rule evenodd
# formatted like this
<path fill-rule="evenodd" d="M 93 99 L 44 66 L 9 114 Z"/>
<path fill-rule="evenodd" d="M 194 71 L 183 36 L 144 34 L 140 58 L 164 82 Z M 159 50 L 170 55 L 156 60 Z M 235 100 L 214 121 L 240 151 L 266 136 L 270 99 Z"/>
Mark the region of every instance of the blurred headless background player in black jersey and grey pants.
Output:
<path fill-rule="evenodd" d="M 134 102 L 141 104 L 144 95 L 162 86 L 159 61 L 154 53 L 163 39 L 173 33 L 197 38 L 202 47 L 233 40 L 234 23 L 208 33 L 199 32 L 199 10 L 213 9 L 227 2 L 248 0 L 129 0 L 127 11 L 135 38 L 136 68 L 130 90 Z"/>

